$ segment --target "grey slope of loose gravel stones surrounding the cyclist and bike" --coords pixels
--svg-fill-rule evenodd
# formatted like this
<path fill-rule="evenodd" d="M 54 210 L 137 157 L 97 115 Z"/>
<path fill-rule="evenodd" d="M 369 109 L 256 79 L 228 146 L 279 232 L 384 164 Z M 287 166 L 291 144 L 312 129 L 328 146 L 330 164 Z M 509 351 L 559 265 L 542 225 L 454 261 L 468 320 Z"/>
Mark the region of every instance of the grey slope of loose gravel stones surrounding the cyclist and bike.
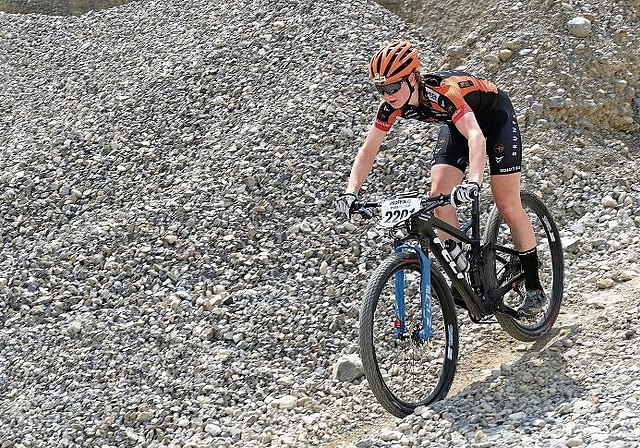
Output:
<path fill-rule="evenodd" d="M 575 39 L 567 9 L 545 5 L 513 13 L 528 14 L 511 33 L 532 52 Z M 525 26 L 543 14 L 558 27 Z M 631 42 L 635 17 L 621 19 Z M 476 41 L 482 59 L 456 56 L 517 94 L 524 183 L 563 229 L 566 312 L 533 346 L 463 322 L 461 364 L 478 363 L 477 381 L 463 367 L 458 394 L 404 420 L 361 377 L 334 375 L 389 246 L 332 202 L 377 102 L 367 58 L 397 36 L 452 63 L 424 29 L 365 1 L 0 14 L 2 446 L 634 446 L 632 69 L 615 100 L 630 109 L 576 126 L 543 88 L 556 65 L 485 61 L 494 37 Z M 398 126 L 369 192 L 426 188 L 430 149 L 424 164 L 408 155 L 436 132 Z M 515 358 L 482 363 L 483 339 Z"/>

